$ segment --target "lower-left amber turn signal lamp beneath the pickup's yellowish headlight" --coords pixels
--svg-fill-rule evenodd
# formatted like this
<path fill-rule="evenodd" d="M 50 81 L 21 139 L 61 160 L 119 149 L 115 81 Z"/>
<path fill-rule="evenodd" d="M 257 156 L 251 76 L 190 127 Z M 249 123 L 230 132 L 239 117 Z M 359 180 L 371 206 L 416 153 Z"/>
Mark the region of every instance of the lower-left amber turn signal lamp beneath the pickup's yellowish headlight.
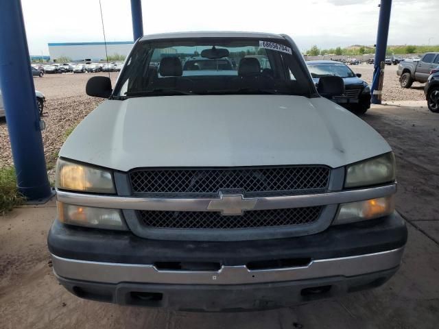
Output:
<path fill-rule="evenodd" d="M 75 206 L 57 202 L 58 220 L 65 224 L 104 228 L 108 230 L 126 230 L 121 210 Z"/>

